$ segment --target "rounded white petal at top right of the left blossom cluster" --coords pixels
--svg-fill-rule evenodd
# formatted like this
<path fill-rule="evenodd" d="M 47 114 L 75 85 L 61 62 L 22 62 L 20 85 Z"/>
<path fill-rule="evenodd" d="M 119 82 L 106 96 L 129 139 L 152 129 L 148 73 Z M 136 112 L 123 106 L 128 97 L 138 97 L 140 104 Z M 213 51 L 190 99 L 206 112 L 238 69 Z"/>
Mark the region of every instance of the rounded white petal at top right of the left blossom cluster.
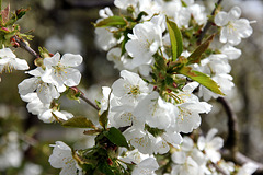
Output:
<path fill-rule="evenodd" d="M 77 67 L 82 60 L 83 58 L 80 55 L 65 54 L 61 57 L 60 63 L 67 67 Z"/>

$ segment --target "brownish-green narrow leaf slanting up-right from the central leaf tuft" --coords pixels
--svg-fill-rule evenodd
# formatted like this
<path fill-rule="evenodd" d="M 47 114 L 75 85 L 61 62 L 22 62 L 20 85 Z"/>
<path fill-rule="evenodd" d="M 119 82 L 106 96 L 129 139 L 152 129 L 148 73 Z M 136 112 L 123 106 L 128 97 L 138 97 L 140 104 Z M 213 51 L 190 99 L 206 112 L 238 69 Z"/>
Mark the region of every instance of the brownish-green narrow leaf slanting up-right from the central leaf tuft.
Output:
<path fill-rule="evenodd" d="M 215 37 L 215 34 L 211 35 L 210 37 L 208 37 L 208 39 L 206 39 L 203 44 L 201 44 L 195 50 L 194 52 L 192 52 L 190 56 L 188 56 L 188 62 L 187 65 L 191 65 L 191 63 L 199 63 L 201 62 L 201 56 L 203 52 L 205 52 L 205 50 L 209 47 L 211 40 L 214 39 Z"/>

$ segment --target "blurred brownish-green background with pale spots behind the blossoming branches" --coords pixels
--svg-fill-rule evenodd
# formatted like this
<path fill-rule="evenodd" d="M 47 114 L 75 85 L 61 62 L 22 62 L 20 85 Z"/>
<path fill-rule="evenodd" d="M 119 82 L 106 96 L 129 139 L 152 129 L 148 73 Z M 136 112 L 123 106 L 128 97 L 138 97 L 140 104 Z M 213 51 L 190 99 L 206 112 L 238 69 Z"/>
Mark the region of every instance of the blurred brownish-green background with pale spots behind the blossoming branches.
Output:
<path fill-rule="evenodd" d="M 214 9 L 215 0 L 198 1 Z M 101 86 L 108 85 L 118 78 L 118 71 L 106 60 L 106 52 L 95 45 L 92 22 L 99 19 L 99 10 L 110 7 L 113 0 L 3 0 L 11 10 L 31 8 L 19 21 L 22 32 L 33 30 L 31 47 L 46 47 L 50 52 L 80 54 L 84 62 L 79 68 L 82 72 L 81 91 L 91 98 L 100 100 Z M 251 24 L 254 33 L 237 47 L 242 56 L 231 62 L 236 88 L 229 102 L 238 116 L 240 151 L 251 159 L 263 163 L 263 1 L 225 0 L 222 7 L 228 11 L 233 5 L 242 9 L 242 18 L 256 21 Z M 115 12 L 118 12 L 115 10 Z M 15 55 L 24 58 L 34 68 L 33 57 L 18 48 Z M 18 93 L 18 84 L 27 74 L 14 71 L 1 74 L 0 83 L 0 174 L 1 175 L 41 175 L 58 174 L 50 167 L 49 144 L 65 141 L 76 149 L 93 144 L 93 138 L 82 135 L 83 130 L 62 128 L 57 124 L 44 124 L 36 116 L 27 113 Z M 62 109 L 75 115 L 82 115 L 95 120 L 95 110 L 83 102 L 62 100 Z M 213 112 L 203 116 L 202 129 L 219 129 L 219 135 L 227 136 L 227 117 L 220 104 L 211 101 Z"/>

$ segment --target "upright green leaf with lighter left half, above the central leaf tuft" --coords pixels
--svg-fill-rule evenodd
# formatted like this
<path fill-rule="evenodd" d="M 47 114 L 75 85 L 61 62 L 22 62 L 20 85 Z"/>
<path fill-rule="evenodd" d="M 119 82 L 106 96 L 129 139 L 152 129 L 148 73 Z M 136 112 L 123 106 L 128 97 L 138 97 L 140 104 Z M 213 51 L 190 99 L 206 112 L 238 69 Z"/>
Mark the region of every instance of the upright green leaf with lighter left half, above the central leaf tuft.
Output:
<path fill-rule="evenodd" d="M 172 45 L 172 59 L 176 60 L 176 58 L 181 56 L 183 51 L 182 34 L 178 25 L 174 22 L 170 21 L 168 18 L 167 18 L 167 26 L 170 35 L 171 45 Z"/>

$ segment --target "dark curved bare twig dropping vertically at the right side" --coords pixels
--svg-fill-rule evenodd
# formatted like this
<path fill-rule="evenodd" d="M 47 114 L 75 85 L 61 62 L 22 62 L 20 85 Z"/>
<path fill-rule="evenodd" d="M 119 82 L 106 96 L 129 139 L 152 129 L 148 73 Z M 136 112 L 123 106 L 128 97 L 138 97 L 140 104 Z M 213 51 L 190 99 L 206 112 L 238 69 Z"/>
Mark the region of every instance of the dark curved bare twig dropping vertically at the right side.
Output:
<path fill-rule="evenodd" d="M 231 106 L 224 97 L 218 97 L 217 101 L 224 106 L 228 116 L 228 138 L 225 142 L 226 148 L 236 152 L 238 149 L 238 124 L 237 116 Z"/>

